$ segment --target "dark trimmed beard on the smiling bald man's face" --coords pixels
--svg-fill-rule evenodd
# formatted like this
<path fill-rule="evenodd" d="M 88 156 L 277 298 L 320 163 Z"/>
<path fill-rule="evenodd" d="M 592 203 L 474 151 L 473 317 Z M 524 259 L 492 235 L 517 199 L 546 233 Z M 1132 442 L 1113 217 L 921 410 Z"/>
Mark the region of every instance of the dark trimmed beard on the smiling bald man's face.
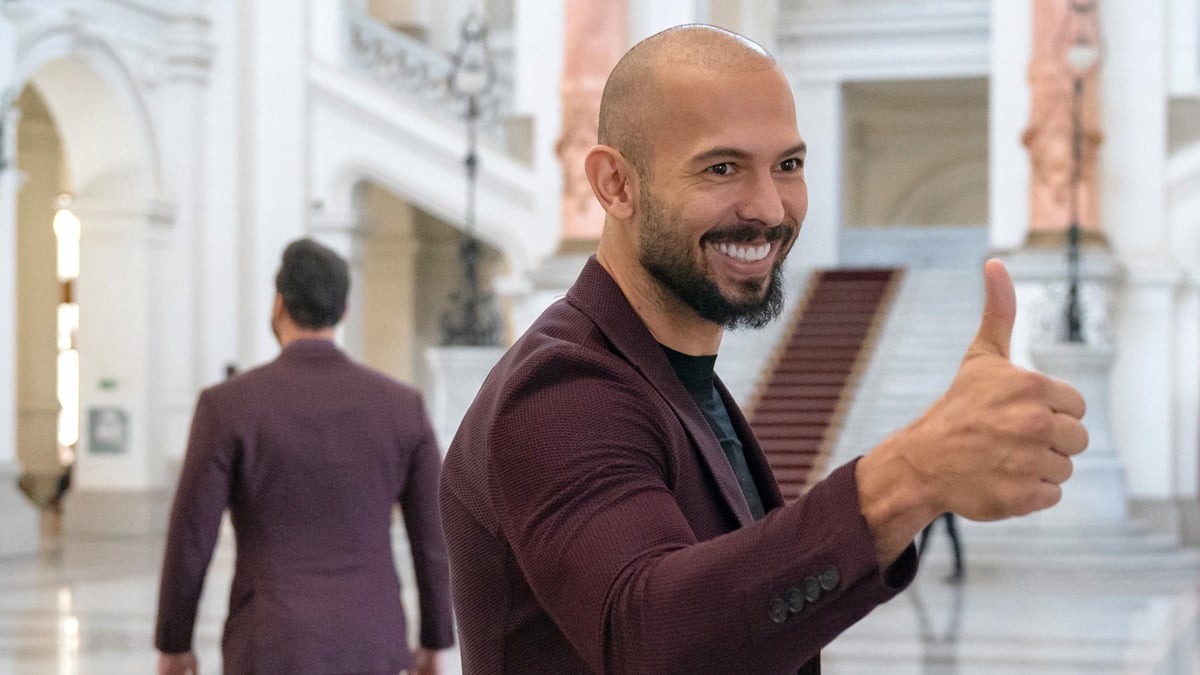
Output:
<path fill-rule="evenodd" d="M 726 328 L 762 328 L 778 317 L 784 310 L 784 258 L 775 261 L 770 269 L 770 279 L 762 298 L 736 301 L 721 294 L 720 287 L 704 276 L 704 270 L 692 264 L 689 250 L 674 246 L 666 233 L 682 231 L 674 227 L 672 219 L 664 217 L 655 199 L 647 199 L 646 221 L 638 235 L 638 262 L 666 291 L 674 294 L 691 307 L 701 318 Z M 754 227 L 754 232 L 760 228 Z M 781 245 L 791 240 L 790 228 L 778 226 L 770 233 L 772 239 L 780 239 Z M 734 238 L 737 240 L 737 238 Z M 754 281 L 743 282 L 746 294 L 758 293 Z"/>

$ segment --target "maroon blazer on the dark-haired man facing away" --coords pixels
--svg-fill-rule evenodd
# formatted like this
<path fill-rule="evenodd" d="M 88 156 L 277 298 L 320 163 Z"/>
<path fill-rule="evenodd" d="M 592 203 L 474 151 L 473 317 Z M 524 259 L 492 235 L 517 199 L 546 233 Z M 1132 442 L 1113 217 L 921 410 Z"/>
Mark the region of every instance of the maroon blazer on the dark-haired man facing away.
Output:
<path fill-rule="evenodd" d="M 175 492 L 155 644 L 191 649 L 222 512 L 238 562 L 224 673 L 388 673 L 409 664 L 390 526 L 398 502 L 420 643 L 452 643 L 439 453 L 420 394 L 328 340 L 200 394 Z"/>

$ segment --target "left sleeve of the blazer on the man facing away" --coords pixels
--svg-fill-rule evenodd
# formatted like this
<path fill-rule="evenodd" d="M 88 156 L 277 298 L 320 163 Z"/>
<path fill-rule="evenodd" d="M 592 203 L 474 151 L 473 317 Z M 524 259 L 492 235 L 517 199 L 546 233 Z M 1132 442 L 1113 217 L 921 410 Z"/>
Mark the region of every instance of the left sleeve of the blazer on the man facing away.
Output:
<path fill-rule="evenodd" d="M 170 509 L 155 628 L 155 647 L 167 653 L 192 649 L 204 575 L 229 503 L 238 443 L 218 408 L 212 390 L 200 394 Z"/>

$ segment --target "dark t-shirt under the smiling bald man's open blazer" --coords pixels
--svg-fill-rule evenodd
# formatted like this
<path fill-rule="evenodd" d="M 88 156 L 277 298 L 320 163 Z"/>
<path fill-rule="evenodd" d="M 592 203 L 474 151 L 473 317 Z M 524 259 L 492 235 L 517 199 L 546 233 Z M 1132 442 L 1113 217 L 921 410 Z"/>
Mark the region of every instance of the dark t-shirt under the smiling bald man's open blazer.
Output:
<path fill-rule="evenodd" d="M 671 362 L 671 366 L 679 376 L 684 388 L 700 406 L 700 411 L 704 413 L 704 419 L 708 420 L 716 440 L 721 442 L 721 449 L 725 450 L 725 456 L 730 460 L 730 466 L 733 467 L 733 474 L 738 477 L 738 484 L 742 485 L 742 494 L 745 495 L 750 513 L 754 514 L 755 520 L 762 518 L 766 510 L 762 507 L 762 497 L 758 496 L 758 486 L 754 482 L 754 476 L 750 474 L 750 466 L 746 465 L 746 456 L 742 450 L 742 440 L 738 438 L 738 432 L 730 420 L 730 411 L 725 408 L 725 401 L 721 400 L 713 380 L 716 354 L 692 357 L 666 346 L 662 347 L 662 351 L 666 352 L 667 360 Z"/>

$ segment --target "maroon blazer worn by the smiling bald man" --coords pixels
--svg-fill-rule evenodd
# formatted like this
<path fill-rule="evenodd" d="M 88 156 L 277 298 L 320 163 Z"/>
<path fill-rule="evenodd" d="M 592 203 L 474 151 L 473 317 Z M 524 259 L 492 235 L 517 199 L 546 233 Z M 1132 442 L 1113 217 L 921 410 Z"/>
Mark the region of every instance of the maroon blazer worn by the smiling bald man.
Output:
<path fill-rule="evenodd" d="M 509 350 L 442 473 L 464 673 L 815 673 L 823 645 L 912 580 L 912 546 L 881 573 L 853 462 L 785 507 L 719 388 L 758 521 L 595 258 Z"/>

